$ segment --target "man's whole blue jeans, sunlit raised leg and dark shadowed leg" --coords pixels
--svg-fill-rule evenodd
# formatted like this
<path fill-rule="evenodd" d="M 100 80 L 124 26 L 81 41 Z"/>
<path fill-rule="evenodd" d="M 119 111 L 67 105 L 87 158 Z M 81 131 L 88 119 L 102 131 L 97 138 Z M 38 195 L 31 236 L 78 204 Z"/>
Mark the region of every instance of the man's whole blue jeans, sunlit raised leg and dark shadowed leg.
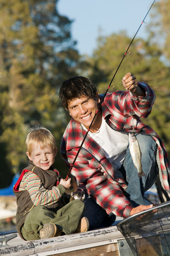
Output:
<path fill-rule="evenodd" d="M 128 146 L 124 161 L 120 168 L 120 172 L 123 174 L 123 177 L 128 184 L 127 190 L 124 191 L 125 196 L 134 207 L 140 204 L 145 205 L 143 199 L 144 192 L 153 185 L 157 176 L 157 144 L 148 135 L 137 134 L 136 138 L 142 154 L 141 164 L 145 176 L 140 179 L 138 178 L 137 169 L 133 164 Z M 84 204 L 86 208 L 84 216 L 89 220 L 90 229 L 109 226 L 115 221 L 114 214 L 106 214 L 105 210 L 87 194 L 85 194 Z"/>

